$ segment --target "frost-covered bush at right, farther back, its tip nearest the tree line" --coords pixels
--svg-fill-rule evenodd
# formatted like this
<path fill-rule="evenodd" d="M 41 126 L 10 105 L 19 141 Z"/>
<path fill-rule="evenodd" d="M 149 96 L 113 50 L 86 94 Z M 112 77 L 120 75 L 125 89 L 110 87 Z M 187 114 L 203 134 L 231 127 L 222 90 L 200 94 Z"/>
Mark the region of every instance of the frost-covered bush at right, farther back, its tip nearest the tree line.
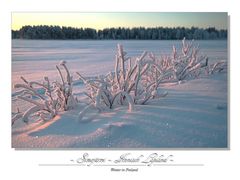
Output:
<path fill-rule="evenodd" d="M 196 78 L 204 72 L 208 65 L 208 58 L 199 55 L 199 48 L 193 41 L 182 40 L 181 52 L 173 46 L 172 55 L 156 57 L 149 53 L 149 66 L 143 74 L 143 84 L 149 91 L 156 91 L 162 83 L 181 82 L 189 78 Z"/>

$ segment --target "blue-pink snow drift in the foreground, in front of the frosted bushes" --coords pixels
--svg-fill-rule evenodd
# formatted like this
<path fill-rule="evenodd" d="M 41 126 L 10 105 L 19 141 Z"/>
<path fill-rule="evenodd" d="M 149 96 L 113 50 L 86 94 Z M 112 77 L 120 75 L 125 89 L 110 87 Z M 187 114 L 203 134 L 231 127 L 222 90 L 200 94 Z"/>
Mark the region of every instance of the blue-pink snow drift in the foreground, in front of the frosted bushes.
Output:
<path fill-rule="evenodd" d="M 226 148 L 227 75 L 165 86 L 167 97 L 147 105 L 97 113 L 83 123 L 83 106 L 49 122 L 14 125 L 14 148 Z M 79 88 L 80 90 L 81 88 Z"/>

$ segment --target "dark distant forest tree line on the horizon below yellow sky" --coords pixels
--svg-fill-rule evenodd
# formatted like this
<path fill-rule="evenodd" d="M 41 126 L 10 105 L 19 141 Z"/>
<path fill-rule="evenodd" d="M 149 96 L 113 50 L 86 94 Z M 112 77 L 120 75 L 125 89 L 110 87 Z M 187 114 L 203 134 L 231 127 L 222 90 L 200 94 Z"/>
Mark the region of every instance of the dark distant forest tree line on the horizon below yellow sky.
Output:
<path fill-rule="evenodd" d="M 12 39 L 131 39 L 131 40 L 177 40 L 183 39 L 227 39 L 227 30 L 209 28 L 73 28 L 60 26 L 23 26 L 12 30 Z"/>

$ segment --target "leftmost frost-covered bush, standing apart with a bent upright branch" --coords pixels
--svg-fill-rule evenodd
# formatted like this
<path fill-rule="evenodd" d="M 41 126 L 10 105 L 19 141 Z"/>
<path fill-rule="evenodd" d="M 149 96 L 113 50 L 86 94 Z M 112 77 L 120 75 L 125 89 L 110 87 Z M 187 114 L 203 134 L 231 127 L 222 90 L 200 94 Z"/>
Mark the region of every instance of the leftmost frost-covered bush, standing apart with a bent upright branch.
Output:
<path fill-rule="evenodd" d="M 62 67 L 65 70 L 65 78 Z M 61 61 L 56 66 L 61 82 L 50 82 L 48 77 L 44 77 L 43 82 L 27 81 L 21 77 L 23 83 L 15 84 L 14 88 L 19 88 L 17 99 L 26 101 L 32 106 L 25 112 L 17 112 L 12 118 L 12 124 L 18 119 L 28 122 L 29 118 L 40 117 L 42 120 L 50 120 L 59 111 L 66 111 L 76 106 L 76 99 L 72 94 L 72 77 L 65 61 Z"/>

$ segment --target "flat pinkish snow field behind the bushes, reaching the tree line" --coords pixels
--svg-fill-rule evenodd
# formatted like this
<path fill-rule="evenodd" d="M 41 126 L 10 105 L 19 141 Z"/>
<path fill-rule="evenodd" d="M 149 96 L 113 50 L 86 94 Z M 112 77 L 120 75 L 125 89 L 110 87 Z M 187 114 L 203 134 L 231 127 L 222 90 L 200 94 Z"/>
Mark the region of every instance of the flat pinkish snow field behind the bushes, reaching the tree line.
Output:
<path fill-rule="evenodd" d="M 172 46 L 178 49 L 181 41 L 78 41 L 78 40 L 13 40 L 12 41 L 12 83 L 19 83 L 19 77 L 28 80 L 42 80 L 43 76 L 58 78 L 55 65 L 60 60 L 68 62 L 71 72 L 84 76 L 106 74 L 114 69 L 117 44 L 122 44 L 129 56 L 139 56 L 143 51 L 156 54 L 170 54 Z M 210 61 L 227 59 L 227 41 L 197 41 L 200 54 Z"/>

